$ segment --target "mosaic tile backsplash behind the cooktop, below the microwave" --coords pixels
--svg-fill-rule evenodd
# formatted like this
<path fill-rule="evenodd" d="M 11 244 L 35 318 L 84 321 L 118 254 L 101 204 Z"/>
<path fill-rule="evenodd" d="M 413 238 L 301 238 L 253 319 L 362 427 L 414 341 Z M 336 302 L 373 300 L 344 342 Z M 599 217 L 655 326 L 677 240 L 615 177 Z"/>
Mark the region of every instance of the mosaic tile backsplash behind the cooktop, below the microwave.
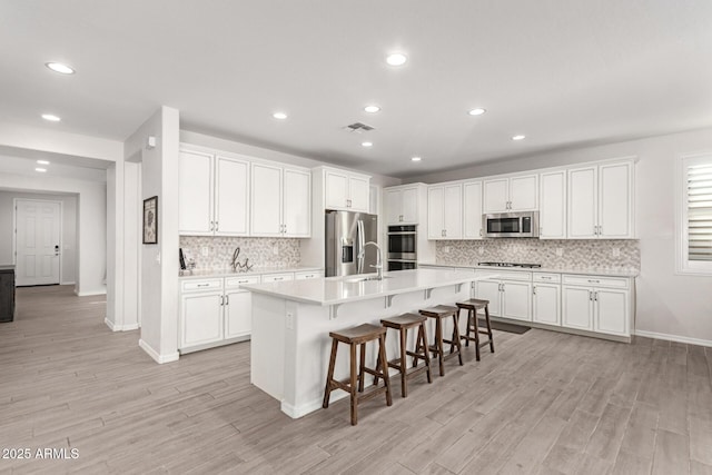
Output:
<path fill-rule="evenodd" d="M 550 268 L 636 269 L 637 240 L 483 239 L 437 241 L 437 264 L 476 265 L 483 261 L 531 263 Z"/>

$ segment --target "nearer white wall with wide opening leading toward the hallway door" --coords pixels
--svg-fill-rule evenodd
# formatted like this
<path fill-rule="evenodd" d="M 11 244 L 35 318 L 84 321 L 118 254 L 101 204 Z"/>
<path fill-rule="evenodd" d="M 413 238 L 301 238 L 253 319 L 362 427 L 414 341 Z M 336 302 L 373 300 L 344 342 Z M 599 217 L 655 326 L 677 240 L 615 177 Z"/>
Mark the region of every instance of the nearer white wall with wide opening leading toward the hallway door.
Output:
<path fill-rule="evenodd" d="M 77 195 L 77 267 L 75 291 L 78 295 L 106 293 L 106 184 L 48 176 L 0 172 L 0 188 Z M 44 195 L 47 196 L 47 195 Z M 11 245 L 10 245 L 11 246 Z"/>

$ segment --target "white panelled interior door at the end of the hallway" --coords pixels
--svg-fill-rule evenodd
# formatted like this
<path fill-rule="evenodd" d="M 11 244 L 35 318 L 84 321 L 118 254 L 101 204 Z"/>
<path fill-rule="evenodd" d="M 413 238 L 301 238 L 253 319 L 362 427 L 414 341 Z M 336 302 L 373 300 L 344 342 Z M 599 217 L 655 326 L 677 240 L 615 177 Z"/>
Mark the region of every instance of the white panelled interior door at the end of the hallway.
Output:
<path fill-rule="evenodd" d="M 16 201 L 17 285 L 59 284 L 61 206 L 57 201 Z"/>

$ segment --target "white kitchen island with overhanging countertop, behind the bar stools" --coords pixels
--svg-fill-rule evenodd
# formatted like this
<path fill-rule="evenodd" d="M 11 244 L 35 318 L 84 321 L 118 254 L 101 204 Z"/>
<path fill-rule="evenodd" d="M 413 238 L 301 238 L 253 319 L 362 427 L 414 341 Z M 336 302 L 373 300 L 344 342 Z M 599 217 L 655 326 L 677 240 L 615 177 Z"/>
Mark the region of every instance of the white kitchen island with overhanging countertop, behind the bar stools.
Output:
<path fill-rule="evenodd" d="M 317 278 L 303 281 L 245 285 L 253 291 L 250 378 L 281 402 L 293 418 L 322 407 L 332 340 L 329 331 L 434 305 L 454 305 L 471 297 L 472 283 L 491 276 L 469 270 L 414 269 L 375 275 Z M 463 317 L 464 318 L 464 317 Z M 444 334 L 452 327 L 444 327 Z M 433 328 L 428 327 L 432 340 Z M 409 336 L 408 346 L 413 345 Z M 396 335 L 388 333 L 386 352 L 396 354 Z M 374 365 L 377 345 L 368 345 Z M 348 352 L 338 353 L 335 375 L 348 374 Z M 390 358 L 390 356 L 389 356 Z M 332 400 L 346 397 L 336 392 Z"/>

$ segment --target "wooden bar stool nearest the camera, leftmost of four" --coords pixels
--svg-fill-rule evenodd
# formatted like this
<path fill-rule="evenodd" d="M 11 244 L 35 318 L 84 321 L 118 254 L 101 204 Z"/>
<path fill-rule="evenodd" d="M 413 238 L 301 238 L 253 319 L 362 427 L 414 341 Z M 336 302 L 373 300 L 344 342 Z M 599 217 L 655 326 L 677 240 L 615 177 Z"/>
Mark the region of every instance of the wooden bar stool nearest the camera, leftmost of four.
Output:
<path fill-rule="evenodd" d="M 366 363 L 366 343 L 378 340 L 378 359 L 387 362 L 386 358 L 386 328 L 376 325 L 364 324 L 354 328 L 346 328 L 339 331 L 330 331 L 332 337 L 332 357 L 329 359 L 329 370 L 326 375 L 326 388 L 324 389 L 324 404 L 322 407 L 325 409 L 329 407 L 329 398 L 334 389 L 344 389 L 350 394 L 352 397 L 352 425 L 355 426 L 358 423 L 358 403 L 362 400 L 370 399 L 386 393 L 386 404 L 390 406 L 393 399 L 390 398 L 390 379 L 388 378 L 388 370 L 380 370 L 379 367 L 375 369 L 367 368 Z M 334 366 L 336 364 L 336 350 L 338 349 L 338 343 L 345 343 L 350 346 L 350 375 L 348 379 L 336 380 L 334 379 Z M 360 346 L 360 364 L 358 372 L 356 370 L 356 347 Z M 386 366 L 387 368 L 387 366 Z M 382 377 L 384 385 L 378 387 L 374 384 L 373 388 L 364 393 L 364 373 L 372 374 L 374 376 Z M 356 380 L 358 379 L 358 392 Z"/>

